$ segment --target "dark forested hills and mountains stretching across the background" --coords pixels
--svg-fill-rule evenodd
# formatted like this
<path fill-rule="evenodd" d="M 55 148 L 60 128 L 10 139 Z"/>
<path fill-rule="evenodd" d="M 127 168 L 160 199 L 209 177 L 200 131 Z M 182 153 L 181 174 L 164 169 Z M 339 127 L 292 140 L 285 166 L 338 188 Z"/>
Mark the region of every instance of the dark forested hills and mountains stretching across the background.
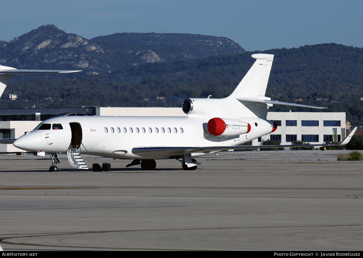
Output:
<path fill-rule="evenodd" d="M 47 29 L 53 32 L 55 30 L 54 27 Z M 254 62 L 251 55 L 262 52 L 275 55 L 266 96 L 273 100 L 296 101 L 299 104 L 328 107 L 324 110 L 325 112 L 347 112 L 348 121 L 354 125 L 363 125 L 363 102 L 360 101 L 360 97 L 363 97 L 363 49 L 360 48 L 330 43 L 184 60 L 179 60 L 179 57 L 174 60 L 168 59 L 172 56 L 168 54 L 169 57 L 165 57 L 163 61 L 151 62 L 151 59 L 148 59 L 150 62 L 146 60 L 141 62 L 136 59 L 141 53 L 135 55 L 138 51 L 155 52 L 155 49 L 160 48 L 158 58 L 161 59 L 162 51 L 166 51 L 168 47 L 175 53 L 177 53 L 176 49 L 179 49 L 178 53 L 183 53 L 185 49 L 200 48 L 201 45 L 192 44 L 187 40 L 185 40 L 187 43 L 184 48 L 176 43 L 172 45 L 172 39 L 168 39 L 172 35 L 163 35 L 166 41 L 161 44 L 158 41 L 161 36 L 156 36 L 156 33 L 136 33 L 140 35 L 117 33 L 87 40 L 80 36 L 77 38 L 77 35 L 63 35 L 64 32 L 59 31 L 57 38 L 64 36 L 64 39 L 68 41 L 54 43 L 55 37 L 54 39 L 48 37 L 49 49 L 45 49 L 44 56 L 40 55 L 44 49 L 38 49 L 44 39 L 36 41 L 37 37 L 34 37 L 39 34 L 39 31 L 35 34 L 32 32 L 32 37 L 24 39 L 20 49 L 26 49 L 21 50 L 20 54 L 19 49 L 16 50 L 15 47 L 0 48 L 0 59 L 13 62 L 1 64 L 29 69 L 75 69 L 76 67 L 71 65 L 72 60 L 74 60 L 73 64 L 80 64 L 79 61 L 87 60 L 88 66 L 78 67 L 84 71 L 70 75 L 14 76 L 1 97 L 1 108 L 30 107 L 31 105 L 175 107 L 180 106 L 183 99 L 187 97 L 208 97 L 208 95 L 212 95 L 212 98 L 225 97 L 232 92 L 251 67 Z M 52 33 L 48 33 L 48 36 Z M 29 37 L 29 35 L 23 36 Z M 152 38 L 149 45 L 145 37 Z M 183 37 L 189 36 L 180 35 L 181 39 Z M 136 39 L 140 40 L 137 44 Z M 26 43 L 28 42 L 26 40 L 30 43 Z M 15 41 L 11 44 L 15 44 Z M 60 46 L 57 47 L 57 45 Z M 61 46 L 66 47 L 61 48 Z M 151 50 L 151 47 L 155 47 L 154 50 Z M 60 52 L 58 56 L 55 54 L 55 49 Z M 64 52 L 61 52 L 62 49 Z M 134 53 L 128 54 L 128 59 L 125 49 Z M 76 51 L 79 52 L 76 54 Z M 208 51 L 205 53 L 210 53 Z M 49 59 L 49 53 L 54 54 L 53 59 Z M 109 58 L 108 61 L 101 59 L 102 56 L 106 56 L 106 53 L 111 53 L 107 55 L 112 56 L 112 59 Z M 123 60 L 121 57 L 124 54 Z M 52 61 L 55 59 L 57 61 Z M 120 62 L 118 63 L 117 60 Z M 23 65 L 19 67 L 21 63 Z M 18 99 L 7 100 L 9 93 L 17 94 Z M 318 101 L 318 99 L 321 100 Z M 270 110 L 287 111 L 289 109 L 291 107 L 274 106 Z M 297 108 L 296 111 L 316 110 Z"/>

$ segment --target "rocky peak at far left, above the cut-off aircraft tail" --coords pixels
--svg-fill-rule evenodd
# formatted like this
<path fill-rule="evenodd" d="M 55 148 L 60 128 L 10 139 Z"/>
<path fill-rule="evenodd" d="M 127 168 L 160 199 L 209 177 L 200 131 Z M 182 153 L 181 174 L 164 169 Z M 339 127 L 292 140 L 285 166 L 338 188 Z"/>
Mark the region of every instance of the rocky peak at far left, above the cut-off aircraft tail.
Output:
<path fill-rule="evenodd" d="M 94 59 L 90 52 L 97 53 L 100 60 Z M 0 48 L 2 64 L 16 68 L 25 68 L 29 61 L 38 60 L 36 67 L 44 69 L 49 69 L 49 64 L 64 69 L 108 69 L 109 65 L 101 61 L 104 55 L 105 52 L 99 45 L 89 43 L 79 35 L 66 33 L 54 25 L 33 29 Z M 24 62 L 24 59 L 28 61 Z"/>

